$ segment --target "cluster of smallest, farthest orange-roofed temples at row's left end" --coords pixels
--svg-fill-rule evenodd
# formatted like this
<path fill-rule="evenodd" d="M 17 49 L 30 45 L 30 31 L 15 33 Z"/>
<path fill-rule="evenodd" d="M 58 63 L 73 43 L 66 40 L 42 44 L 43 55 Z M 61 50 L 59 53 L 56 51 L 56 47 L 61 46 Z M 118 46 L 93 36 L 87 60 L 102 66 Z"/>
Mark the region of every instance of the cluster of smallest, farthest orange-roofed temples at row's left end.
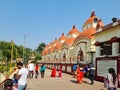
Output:
<path fill-rule="evenodd" d="M 54 42 L 46 45 L 45 49 L 42 52 L 42 60 L 46 62 L 61 62 L 61 46 L 65 42 L 66 36 L 64 33 L 60 36 L 59 39 L 55 39 Z M 59 60 L 59 61 L 58 61 Z"/>

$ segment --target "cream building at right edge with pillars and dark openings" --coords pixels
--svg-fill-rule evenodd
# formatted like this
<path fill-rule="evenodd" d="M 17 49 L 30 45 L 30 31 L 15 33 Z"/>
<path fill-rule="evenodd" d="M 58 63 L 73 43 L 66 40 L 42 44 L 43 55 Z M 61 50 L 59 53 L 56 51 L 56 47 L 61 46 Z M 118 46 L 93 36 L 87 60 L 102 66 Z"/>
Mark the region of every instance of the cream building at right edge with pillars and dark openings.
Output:
<path fill-rule="evenodd" d="M 104 27 L 99 27 L 94 34 L 96 37 L 96 57 L 120 54 L 120 20 L 116 20 Z"/>

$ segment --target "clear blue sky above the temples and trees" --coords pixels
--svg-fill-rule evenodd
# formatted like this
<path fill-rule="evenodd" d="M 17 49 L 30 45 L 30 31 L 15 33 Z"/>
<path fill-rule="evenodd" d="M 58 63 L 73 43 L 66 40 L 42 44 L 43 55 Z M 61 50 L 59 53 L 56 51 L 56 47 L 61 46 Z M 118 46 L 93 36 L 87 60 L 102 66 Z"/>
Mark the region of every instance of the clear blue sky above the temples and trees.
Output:
<path fill-rule="evenodd" d="M 120 18 L 120 0 L 0 0 L 0 40 L 35 49 L 82 25 L 92 10 L 104 24 Z"/>

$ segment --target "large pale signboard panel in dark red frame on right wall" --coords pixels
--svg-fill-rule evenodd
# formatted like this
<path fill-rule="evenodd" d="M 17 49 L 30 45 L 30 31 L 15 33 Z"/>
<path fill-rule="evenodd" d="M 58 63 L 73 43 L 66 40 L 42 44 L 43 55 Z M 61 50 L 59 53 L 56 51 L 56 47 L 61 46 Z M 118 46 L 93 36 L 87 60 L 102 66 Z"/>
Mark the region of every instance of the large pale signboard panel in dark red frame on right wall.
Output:
<path fill-rule="evenodd" d="M 117 73 L 117 60 L 98 60 L 97 61 L 97 76 L 104 77 L 108 73 L 109 68 L 114 68 Z"/>

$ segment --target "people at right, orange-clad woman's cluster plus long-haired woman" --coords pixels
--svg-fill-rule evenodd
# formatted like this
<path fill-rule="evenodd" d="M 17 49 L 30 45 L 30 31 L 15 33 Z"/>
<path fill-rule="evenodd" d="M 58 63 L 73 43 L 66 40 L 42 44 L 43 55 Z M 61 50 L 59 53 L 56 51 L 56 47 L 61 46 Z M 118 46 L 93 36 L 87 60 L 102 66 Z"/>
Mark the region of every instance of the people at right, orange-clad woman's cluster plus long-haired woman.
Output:
<path fill-rule="evenodd" d="M 83 77 L 87 77 L 90 79 L 90 84 L 94 84 L 94 75 L 95 75 L 95 68 L 93 65 L 90 63 L 89 65 L 86 66 L 81 66 L 79 64 L 73 65 L 73 72 L 74 72 L 74 77 L 76 77 L 77 83 L 82 83 L 83 82 Z M 107 88 L 108 90 L 117 90 L 118 86 L 118 80 L 117 80 L 117 75 L 115 73 L 114 68 L 109 68 L 108 73 L 105 77 L 104 80 L 104 87 Z"/>

